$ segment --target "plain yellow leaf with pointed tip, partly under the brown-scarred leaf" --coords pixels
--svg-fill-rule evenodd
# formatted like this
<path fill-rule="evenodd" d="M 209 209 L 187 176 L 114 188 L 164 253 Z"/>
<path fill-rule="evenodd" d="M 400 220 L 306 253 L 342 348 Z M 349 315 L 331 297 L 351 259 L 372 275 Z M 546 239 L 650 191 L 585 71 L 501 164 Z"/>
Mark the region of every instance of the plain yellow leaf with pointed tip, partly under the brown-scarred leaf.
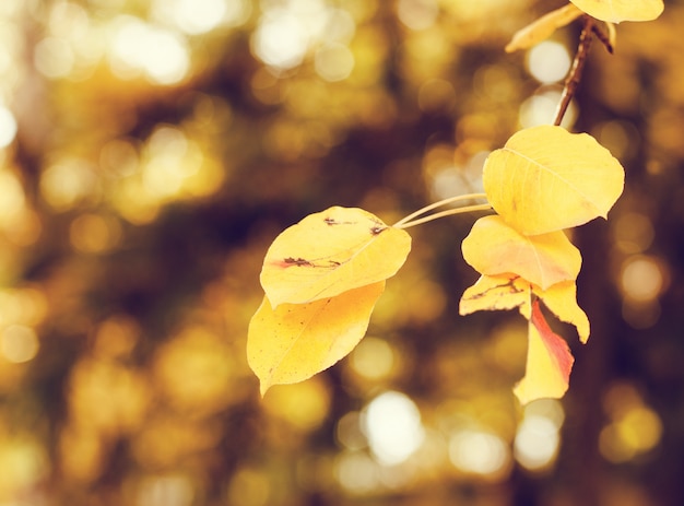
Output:
<path fill-rule="evenodd" d="M 247 362 L 261 384 L 310 378 L 349 354 L 366 333 L 385 281 L 308 304 L 271 308 L 267 297 L 249 322 Z"/>

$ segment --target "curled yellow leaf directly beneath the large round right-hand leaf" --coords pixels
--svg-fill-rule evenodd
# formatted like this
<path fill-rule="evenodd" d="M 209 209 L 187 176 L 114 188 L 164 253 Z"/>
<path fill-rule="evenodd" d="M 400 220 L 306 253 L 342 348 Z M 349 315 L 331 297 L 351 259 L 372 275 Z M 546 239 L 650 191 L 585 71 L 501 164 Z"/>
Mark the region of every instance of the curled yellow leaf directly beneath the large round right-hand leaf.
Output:
<path fill-rule="evenodd" d="M 544 290 L 575 280 L 581 267 L 579 250 L 562 231 L 524 236 L 496 215 L 477 220 L 461 249 L 481 274 L 512 273 Z"/>

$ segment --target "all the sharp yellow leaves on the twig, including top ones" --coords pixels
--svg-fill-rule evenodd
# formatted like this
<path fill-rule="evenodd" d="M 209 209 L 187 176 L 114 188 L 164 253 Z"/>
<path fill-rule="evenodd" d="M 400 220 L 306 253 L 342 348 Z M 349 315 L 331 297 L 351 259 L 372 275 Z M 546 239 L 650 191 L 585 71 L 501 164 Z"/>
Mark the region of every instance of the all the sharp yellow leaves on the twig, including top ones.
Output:
<path fill-rule="evenodd" d="M 608 23 L 606 46 L 612 50 L 611 23 L 648 21 L 661 12 L 660 0 L 573 0 L 518 32 L 506 49 L 530 47 L 583 15 Z M 592 26 L 585 24 L 585 30 Z M 575 78 L 579 75 L 569 77 L 568 83 Z M 624 177 L 620 162 L 593 137 L 542 126 L 515 133 L 487 156 L 484 195 L 446 199 L 393 226 L 355 208 L 334 207 L 305 217 L 278 236 L 263 261 L 266 295 L 251 319 L 247 346 L 261 393 L 272 385 L 306 379 L 354 349 L 386 280 L 410 252 L 404 228 L 493 208 L 496 214 L 479 219 L 462 242 L 464 260 L 481 276 L 463 293 L 459 313 L 517 308 L 528 320 L 528 355 L 524 377 L 514 392 L 522 403 L 562 397 L 574 357 L 551 329 L 543 307 L 571 323 L 587 342 L 590 323 L 576 297 L 581 254 L 565 231 L 606 219 L 622 195 Z M 486 198 L 487 203 L 416 217 L 469 198 Z"/>

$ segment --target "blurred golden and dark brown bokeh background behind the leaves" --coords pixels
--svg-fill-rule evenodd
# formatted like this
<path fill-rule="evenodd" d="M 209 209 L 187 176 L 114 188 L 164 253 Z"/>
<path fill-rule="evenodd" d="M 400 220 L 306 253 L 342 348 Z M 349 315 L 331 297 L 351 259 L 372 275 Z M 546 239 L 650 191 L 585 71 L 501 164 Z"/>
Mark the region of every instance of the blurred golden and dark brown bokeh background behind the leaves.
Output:
<path fill-rule="evenodd" d="M 246 361 L 273 238 L 481 191 L 551 123 L 556 0 L 2 0 L 0 505 L 684 504 L 684 2 L 592 47 L 566 126 L 620 158 L 575 231 L 592 337 L 521 408 L 526 322 L 458 316 L 477 215 L 411 228 L 367 337 L 263 400 Z"/>

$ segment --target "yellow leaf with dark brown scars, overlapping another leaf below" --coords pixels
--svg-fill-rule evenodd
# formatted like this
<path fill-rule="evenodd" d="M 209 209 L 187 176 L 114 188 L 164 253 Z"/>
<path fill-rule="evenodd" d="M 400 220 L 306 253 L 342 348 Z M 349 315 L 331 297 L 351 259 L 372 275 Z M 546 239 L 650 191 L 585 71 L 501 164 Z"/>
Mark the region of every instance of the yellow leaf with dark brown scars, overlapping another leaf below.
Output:
<path fill-rule="evenodd" d="M 357 208 L 330 208 L 283 231 L 267 251 L 261 285 L 273 308 L 386 280 L 403 266 L 411 236 Z"/>

